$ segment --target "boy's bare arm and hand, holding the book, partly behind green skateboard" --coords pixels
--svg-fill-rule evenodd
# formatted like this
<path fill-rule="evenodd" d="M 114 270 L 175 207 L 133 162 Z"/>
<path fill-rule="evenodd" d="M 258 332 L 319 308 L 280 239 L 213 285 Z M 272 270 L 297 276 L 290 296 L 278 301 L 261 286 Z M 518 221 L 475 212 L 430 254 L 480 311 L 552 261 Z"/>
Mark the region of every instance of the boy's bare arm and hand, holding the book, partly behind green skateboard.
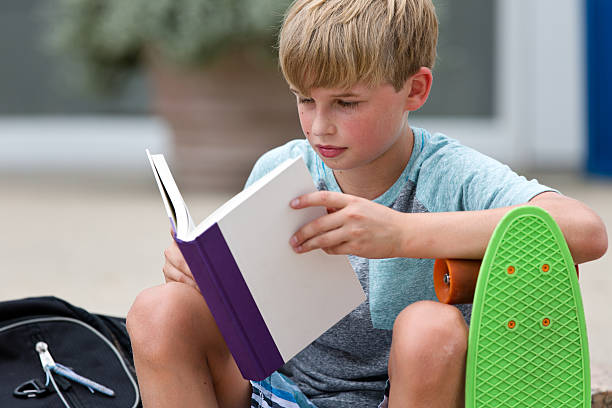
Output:
<path fill-rule="evenodd" d="M 557 221 L 576 263 L 597 259 L 606 252 L 605 226 L 586 205 L 554 192 L 542 193 L 529 204 L 545 209 Z M 484 256 L 493 230 L 513 208 L 401 213 L 363 198 L 328 191 L 299 197 L 291 206 L 333 209 L 296 232 L 290 243 L 297 252 L 322 248 L 330 254 L 365 258 L 464 259 Z"/>

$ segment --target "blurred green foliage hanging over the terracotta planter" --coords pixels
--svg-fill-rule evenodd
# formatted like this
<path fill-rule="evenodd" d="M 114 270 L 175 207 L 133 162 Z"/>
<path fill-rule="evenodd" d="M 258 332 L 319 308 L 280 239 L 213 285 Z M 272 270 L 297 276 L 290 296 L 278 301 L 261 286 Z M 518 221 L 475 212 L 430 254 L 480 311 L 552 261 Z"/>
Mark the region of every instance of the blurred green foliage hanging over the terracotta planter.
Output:
<path fill-rule="evenodd" d="M 290 0 L 55 0 L 47 43 L 98 91 L 120 88 L 153 50 L 203 66 L 236 50 L 272 54 Z"/>

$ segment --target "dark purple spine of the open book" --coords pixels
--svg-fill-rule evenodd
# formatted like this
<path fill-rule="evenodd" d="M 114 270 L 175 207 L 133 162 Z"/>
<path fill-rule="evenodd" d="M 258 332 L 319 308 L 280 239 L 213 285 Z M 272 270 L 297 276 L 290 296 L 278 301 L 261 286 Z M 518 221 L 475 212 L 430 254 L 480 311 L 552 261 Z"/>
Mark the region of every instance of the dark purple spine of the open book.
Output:
<path fill-rule="evenodd" d="M 262 380 L 280 368 L 285 362 L 219 226 L 177 244 L 242 376 Z"/>

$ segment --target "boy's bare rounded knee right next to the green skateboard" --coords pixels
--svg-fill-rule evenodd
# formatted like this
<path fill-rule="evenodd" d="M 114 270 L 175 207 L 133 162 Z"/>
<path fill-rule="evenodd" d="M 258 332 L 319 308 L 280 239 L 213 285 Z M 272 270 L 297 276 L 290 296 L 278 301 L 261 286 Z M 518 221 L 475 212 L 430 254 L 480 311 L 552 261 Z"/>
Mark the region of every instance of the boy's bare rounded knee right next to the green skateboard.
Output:
<path fill-rule="evenodd" d="M 412 363 L 463 358 L 467 335 L 467 325 L 456 307 L 433 301 L 416 302 L 395 320 L 394 353 Z"/>

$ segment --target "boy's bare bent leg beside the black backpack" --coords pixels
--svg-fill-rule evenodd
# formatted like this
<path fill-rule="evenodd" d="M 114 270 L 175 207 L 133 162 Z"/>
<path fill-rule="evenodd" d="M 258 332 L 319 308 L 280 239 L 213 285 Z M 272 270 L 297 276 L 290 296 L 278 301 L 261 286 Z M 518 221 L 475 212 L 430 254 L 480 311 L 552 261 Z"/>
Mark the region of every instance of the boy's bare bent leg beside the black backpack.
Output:
<path fill-rule="evenodd" d="M 146 289 L 127 326 L 146 408 L 249 406 L 251 384 L 195 289 L 181 283 Z"/>

